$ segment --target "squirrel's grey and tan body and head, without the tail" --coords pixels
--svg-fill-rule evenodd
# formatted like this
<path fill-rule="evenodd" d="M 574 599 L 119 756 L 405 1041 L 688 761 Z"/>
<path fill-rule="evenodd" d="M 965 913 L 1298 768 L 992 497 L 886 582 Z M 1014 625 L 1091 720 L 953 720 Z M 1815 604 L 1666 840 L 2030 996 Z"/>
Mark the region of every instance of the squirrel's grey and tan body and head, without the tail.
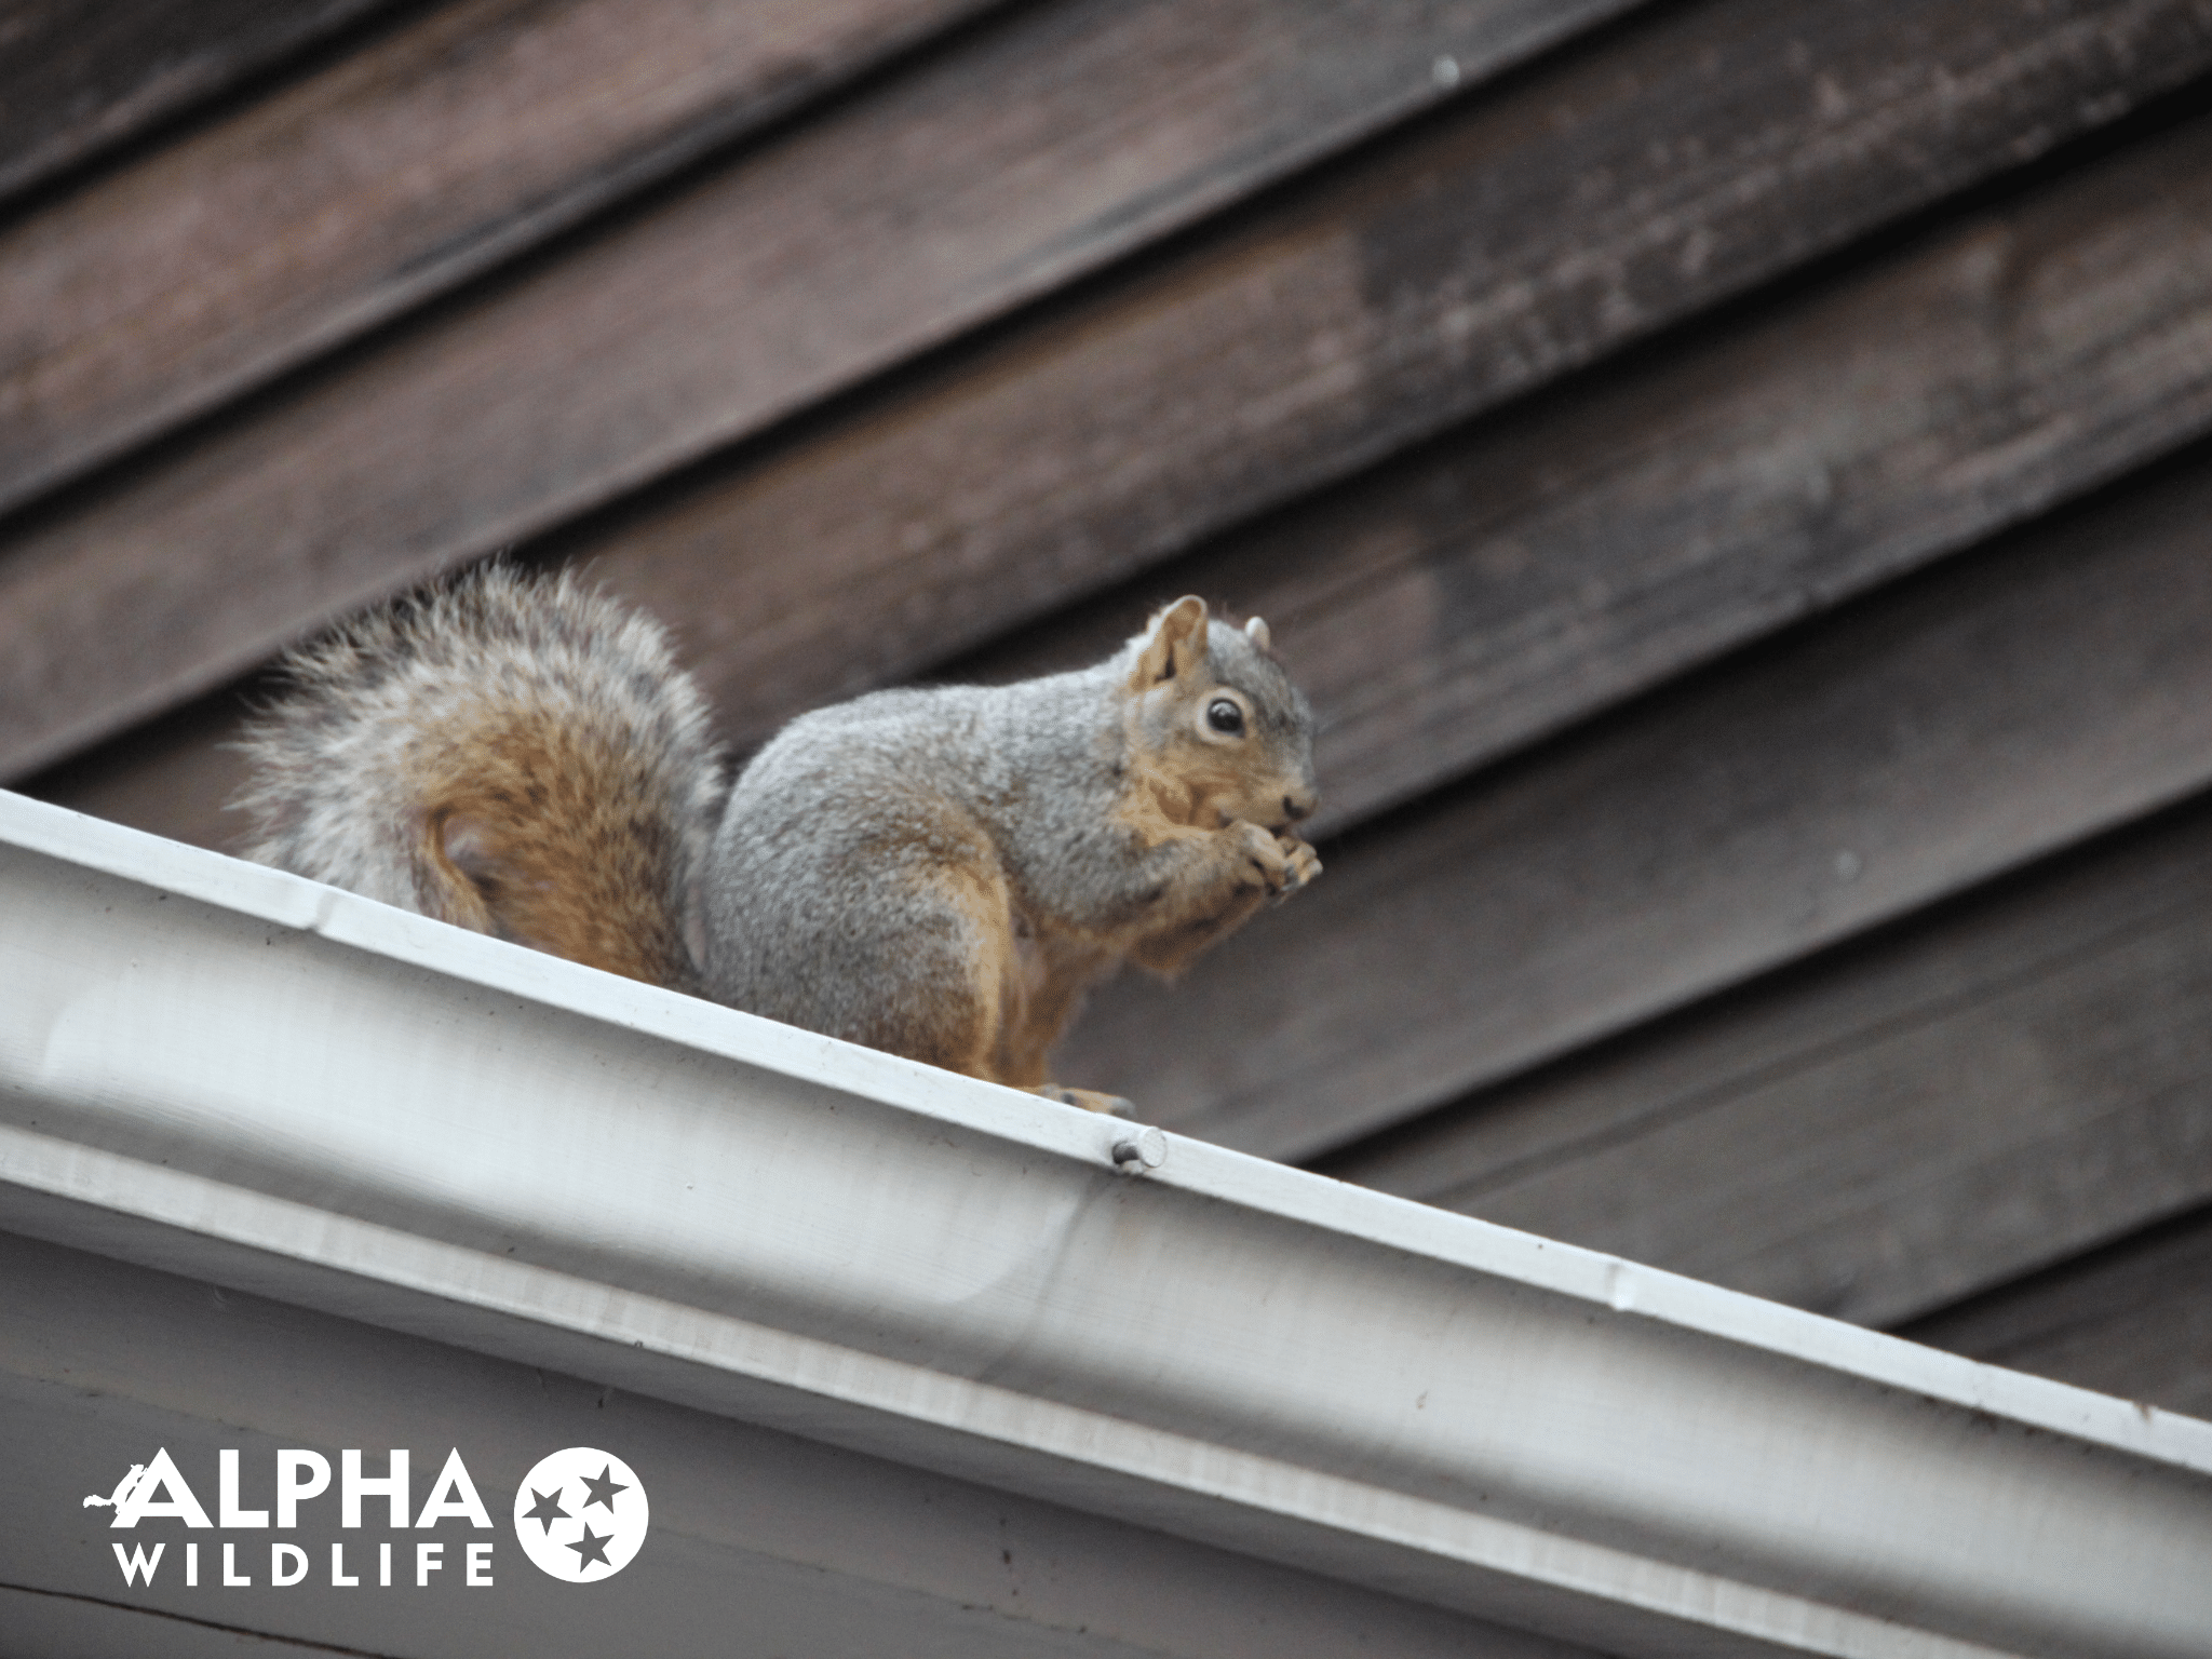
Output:
<path fill-rule="evenodd" d="M 1046 1086 L 1091 984 L 1175 973 L 1321 872 L 1290 834 L 1312 714 L 1263 641 L 1181 599 L 1095 668 L 792 721 L 714 836 L 708 995 Z M 1217 699 L 1241 737 L 1206 728 Z"/>

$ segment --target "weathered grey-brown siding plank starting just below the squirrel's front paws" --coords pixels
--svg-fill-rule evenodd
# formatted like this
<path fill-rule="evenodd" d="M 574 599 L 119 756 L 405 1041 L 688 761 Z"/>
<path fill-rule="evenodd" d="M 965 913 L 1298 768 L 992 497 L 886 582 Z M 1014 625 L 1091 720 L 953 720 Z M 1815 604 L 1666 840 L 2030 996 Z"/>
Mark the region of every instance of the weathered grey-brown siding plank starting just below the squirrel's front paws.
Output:
<path fill-rule="evenodd" d="M 1431 805 L 1062 1073 L 1316 1155 L 2212 781 L 2203 458 Z"/>

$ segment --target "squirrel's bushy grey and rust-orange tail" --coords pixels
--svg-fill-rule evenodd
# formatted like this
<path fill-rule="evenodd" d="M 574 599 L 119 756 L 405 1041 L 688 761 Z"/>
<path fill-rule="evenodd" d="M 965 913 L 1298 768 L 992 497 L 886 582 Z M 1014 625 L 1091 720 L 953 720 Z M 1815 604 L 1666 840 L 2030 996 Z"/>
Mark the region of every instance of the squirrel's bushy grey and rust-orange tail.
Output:
<path fill-rule="evenodd" d="M 239 748 L 257 858 L 653 984 L 697 984 L 726 792 L 666 633 L 491 564 L 285 664 Z"/>

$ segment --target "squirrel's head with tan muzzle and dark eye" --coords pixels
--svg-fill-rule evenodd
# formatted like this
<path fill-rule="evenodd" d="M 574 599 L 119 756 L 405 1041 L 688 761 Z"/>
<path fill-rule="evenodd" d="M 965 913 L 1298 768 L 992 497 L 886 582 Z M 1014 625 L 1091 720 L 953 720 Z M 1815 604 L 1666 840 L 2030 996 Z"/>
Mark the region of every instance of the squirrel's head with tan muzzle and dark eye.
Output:
<path fill-rule="evenodd" d="M 1312 814 L 1314 712 L 1267 639 L 1177 599 L 1121 653 L 1135 763 L 1179 823 L 1287 830 Z"/>

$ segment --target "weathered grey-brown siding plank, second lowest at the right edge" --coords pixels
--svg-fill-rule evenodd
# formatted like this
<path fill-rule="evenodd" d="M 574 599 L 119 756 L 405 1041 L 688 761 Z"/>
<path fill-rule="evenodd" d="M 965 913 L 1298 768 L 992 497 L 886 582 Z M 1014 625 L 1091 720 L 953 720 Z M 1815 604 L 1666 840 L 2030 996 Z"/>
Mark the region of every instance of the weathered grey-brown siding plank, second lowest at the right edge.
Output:
<path fill-rule="evenodd" d="M 2212 1199 L 2212 803 L 1332 1175 L 1893 1325 Z"/>

